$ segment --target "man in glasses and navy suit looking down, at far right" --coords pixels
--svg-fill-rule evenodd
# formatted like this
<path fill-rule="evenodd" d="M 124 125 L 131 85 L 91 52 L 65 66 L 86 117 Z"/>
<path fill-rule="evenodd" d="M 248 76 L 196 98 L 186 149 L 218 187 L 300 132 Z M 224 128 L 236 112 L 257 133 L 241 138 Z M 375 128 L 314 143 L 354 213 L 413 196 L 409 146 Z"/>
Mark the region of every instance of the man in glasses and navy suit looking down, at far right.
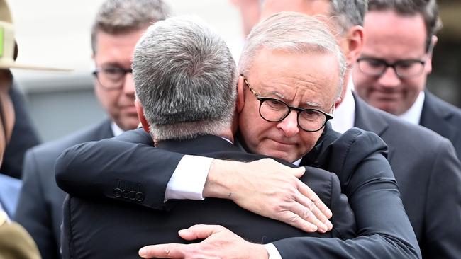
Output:
<path fill-rule="evenodd" d="M 435 0 L 372 0 L 352 79 L 370 105 L 450 139 L 461 158 L 461 110 L 425 90 L 440 29 Z"/>

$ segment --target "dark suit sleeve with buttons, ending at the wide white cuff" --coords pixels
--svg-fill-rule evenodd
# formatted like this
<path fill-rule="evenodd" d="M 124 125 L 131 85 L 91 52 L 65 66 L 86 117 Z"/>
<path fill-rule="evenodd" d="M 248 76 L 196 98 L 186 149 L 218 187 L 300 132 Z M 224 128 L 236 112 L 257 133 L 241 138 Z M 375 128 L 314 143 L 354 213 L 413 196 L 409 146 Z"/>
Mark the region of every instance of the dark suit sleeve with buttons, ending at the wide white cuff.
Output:
<path fill-rule="evenodd" d="M 70 195 L 165 209 L 167 183 L 182 156 L 152 148 L 149 134 L 135 129 L 66 149 L 55 164 L 56 183 Z"/>

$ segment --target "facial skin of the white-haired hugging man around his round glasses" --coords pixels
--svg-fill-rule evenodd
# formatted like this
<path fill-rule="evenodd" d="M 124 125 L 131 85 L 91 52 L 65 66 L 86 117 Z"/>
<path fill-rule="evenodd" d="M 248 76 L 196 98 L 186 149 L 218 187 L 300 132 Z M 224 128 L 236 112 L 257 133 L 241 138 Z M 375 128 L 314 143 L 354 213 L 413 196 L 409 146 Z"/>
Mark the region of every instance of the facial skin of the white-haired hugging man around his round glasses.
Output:
<path fill-rule="evenodd" d="M 261 50 L 252 62 L 248 81 L 263 97 L 330 113 L 339 84 L 338 69 L 331 65 L 335 62 L 338 61 L 333 55 Z M 267 122 L 259 114 L 260 101 L 245 91 L 239 125 L 249 151 L 293 162 L 315 146 L 322 130 L 300 129 L 296 112 L 291 112 L 282 122 Z"/>

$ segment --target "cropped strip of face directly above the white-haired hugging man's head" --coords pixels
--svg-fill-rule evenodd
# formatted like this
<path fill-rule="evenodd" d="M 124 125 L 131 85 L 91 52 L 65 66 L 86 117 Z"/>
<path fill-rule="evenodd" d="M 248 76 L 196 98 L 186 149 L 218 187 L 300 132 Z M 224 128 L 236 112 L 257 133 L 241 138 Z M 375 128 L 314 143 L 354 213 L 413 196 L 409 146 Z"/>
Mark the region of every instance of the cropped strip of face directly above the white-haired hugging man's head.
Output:
<path fill-rule="evenodd" d="M 330 14 L 329 0 L 266 0 L 262 5 L 261 16 L 265 18 L 281 11 L 294 11 L 309 16 Z"/>

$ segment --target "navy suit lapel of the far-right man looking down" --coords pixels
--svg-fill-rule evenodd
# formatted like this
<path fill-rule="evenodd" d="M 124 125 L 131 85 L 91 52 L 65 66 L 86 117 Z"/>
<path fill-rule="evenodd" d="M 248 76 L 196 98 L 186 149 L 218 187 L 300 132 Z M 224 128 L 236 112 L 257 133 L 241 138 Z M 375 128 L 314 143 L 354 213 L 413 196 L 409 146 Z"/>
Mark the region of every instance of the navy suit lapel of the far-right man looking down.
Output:
<path fill-rule="evenodd" d="M 423 111 L 420 125 L 432 129 L 448 139 L 454 139 L 457 129 L 448 122 L 452 113 L 438 103 L 438 100 L 428 91 L 424 92 Z"/>

